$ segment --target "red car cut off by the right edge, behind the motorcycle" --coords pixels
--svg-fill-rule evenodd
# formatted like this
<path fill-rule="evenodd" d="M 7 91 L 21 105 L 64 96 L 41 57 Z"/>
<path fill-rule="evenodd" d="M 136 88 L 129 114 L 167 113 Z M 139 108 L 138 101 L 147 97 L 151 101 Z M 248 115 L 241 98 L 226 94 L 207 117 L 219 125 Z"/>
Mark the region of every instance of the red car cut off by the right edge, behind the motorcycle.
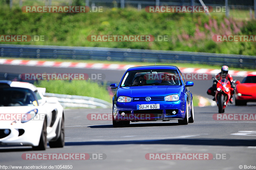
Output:
<path fill-rule="evenodd" d="M 236 105 L 256 102 L 256 75 L 249 74 L 241 83 L 236 81 L 236 84 Z"/>

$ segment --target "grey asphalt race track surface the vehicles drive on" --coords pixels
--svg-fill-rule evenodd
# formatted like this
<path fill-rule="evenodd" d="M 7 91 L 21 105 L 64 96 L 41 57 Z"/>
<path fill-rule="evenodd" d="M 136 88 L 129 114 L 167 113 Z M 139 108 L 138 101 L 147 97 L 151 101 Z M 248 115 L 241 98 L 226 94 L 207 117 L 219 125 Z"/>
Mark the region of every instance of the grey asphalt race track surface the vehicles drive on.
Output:
<path fill-rule="evenodd" d="M 124 71 L 113 70 L 0 66 L 0 72 L 9 73 L 44 73 L 46 70 L 47 73 L 104 73 L 106 80 L 113 83 L 118 83 L 124 73 Z M 238 80 L 242 79 L 238 78 Z M 194 82 L 195 86 L 190 88 L 192 93 L 208 97 L 205 93 L 212 80 Z M 239 166 L 242 166 L 242 169 L 245 169 L 244 166 L 256 166 L 255 120 L 214 120 L 214 114 L 218 113 L 216 106 L 195 107 L 194 110 L 195 122 L 188 125 L 178 125 L 177 120 L 173 120 L 132 122 L 129 127 L 113 128 L 112 120 L 89 120 L 87 118 L 88 114 L 110 114 L 111 108 L 65 109 L 64 148 L 49 148 L 48 146 L 45 151 L 32 151 L 31 147 L 1 146 L 0 165 L 47 167 L 72 165 L 72 169 L 123 170 L 233 170 L 240 169 Z M 225 113 L 255 114 L 255 110 L 255 103 L 248 103 L 247 106 L 232 104 L 226 108 Z M 89 153 L 89 155 L 94 153 L 94 156 L 97 153 L 104 155 L 104 158 L 97 160 L 93 160 L 93 157 L 88 160 L 24 160 L 21 157 L 23 153 Z M 148 160 L 146 155 L 149 153 L 179 153 L 182 155 L 208 153 L 213 157 L 210 157 L 211 160 L 197 160 L 198 157 L 192 160 Z M 157 157 L 155 155 L 152 158 Z"/>

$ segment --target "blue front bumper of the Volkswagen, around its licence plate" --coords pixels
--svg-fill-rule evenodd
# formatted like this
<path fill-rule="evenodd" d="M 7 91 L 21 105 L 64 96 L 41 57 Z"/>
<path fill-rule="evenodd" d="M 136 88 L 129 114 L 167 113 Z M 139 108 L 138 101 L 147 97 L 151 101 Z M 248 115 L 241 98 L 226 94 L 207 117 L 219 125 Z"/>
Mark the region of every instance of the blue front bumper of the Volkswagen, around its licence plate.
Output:
<path fill-rule="evenodd" d="M 159 104 L 159 109 L 138 110 L 137 104 Z M 114 102 L 113 120 L 131 120 L 131 121 L 157 121 L 157 120 L 178 120 L 184 119 L 186 114 L 185 101 L 150 101 L 129 103 Z M 172 112 L 175 111 L 176 114 Z"/>

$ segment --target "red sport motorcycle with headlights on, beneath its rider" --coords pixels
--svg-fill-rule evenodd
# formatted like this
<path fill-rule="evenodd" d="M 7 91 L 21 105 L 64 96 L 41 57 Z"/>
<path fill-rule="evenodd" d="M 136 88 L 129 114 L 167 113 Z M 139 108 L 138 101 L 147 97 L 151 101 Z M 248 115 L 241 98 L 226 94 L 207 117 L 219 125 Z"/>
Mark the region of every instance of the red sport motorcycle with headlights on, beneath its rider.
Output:
<path fill-rule="evenodd" d="M 230 90 L 234 89 L 231 88 L 230 82 L 227 79 L 221 79 L 218 81 L 217 90 L 215 92 L 215 101 L 219 107 L 219 113 L 225 112 L 225 108 L 227 107 L 231 96 Z"/>

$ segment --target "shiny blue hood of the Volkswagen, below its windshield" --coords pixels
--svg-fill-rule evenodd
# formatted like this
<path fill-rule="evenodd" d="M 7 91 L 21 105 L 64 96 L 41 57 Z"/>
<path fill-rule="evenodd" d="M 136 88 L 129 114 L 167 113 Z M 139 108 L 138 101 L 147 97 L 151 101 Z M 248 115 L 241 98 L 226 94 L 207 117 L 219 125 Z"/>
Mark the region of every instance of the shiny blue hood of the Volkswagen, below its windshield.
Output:
<path fill-rule="evenodd" d="M 164 97 L 171 94 L 179 94 L 182 86 L 133 86 L 120 87 L 119 96 L 128 97 Z"/>

